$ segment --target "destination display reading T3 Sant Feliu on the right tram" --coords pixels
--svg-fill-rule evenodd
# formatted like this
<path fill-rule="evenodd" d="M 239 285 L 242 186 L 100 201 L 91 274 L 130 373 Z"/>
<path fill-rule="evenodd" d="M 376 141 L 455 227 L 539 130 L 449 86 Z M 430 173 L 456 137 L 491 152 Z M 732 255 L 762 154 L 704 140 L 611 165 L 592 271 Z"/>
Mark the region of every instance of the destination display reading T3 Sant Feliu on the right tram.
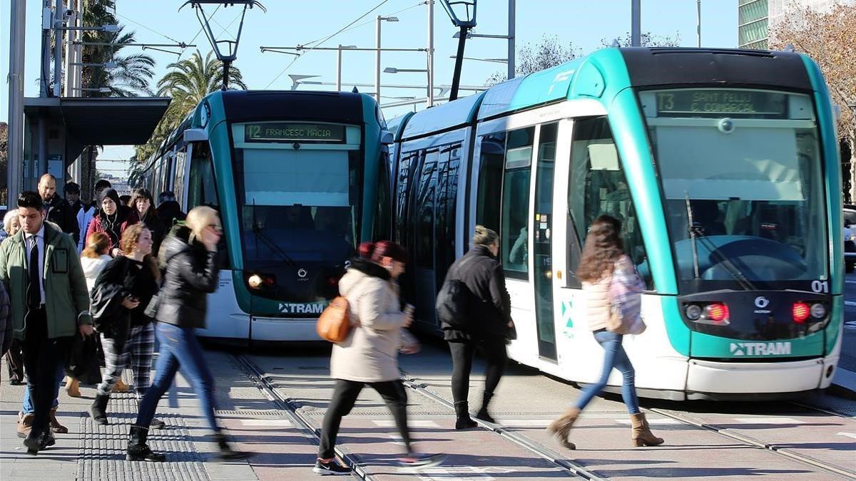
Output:
<path fill-rule="evenodd" d="M 787 118 L 784 93 L 681 89 L 657 92 L 657 116 Z"/>

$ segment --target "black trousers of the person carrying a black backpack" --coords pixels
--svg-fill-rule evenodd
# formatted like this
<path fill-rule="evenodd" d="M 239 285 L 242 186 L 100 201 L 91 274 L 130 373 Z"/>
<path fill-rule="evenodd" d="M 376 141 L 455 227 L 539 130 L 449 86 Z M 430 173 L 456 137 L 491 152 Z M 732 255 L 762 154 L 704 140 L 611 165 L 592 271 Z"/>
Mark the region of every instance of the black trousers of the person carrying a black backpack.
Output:
<path fill-rule="evenodd" d="M 449 342 L 449 350 L 452 352 L 452 399 L 455 402 L 467 401 L 470 392 L 470 372 L 473 371 L 473 354 L 478 347 L 481 348 L 484 360 L 487 361 L 487 368 L 484 370 L 485 393 L 493 394 L 502 378 L 502 372 L 505 371 L 508 352 L 505 350 L 504 338 L 497 336 Z"/>

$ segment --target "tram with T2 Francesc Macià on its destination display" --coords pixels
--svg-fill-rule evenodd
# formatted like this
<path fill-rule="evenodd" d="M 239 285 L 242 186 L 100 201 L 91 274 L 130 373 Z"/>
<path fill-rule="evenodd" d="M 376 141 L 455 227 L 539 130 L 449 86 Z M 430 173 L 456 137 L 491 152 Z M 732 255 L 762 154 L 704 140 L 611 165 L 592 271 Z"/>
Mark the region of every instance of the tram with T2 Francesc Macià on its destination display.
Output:
<path fill-rule="evenodd" d="M 351 92 L 214 92 L 146 167 L 152 193 L 223 219 L 220 286 L 200 336 L 316 341 L 354 248 L 389 238 L 380 109 Z"/>

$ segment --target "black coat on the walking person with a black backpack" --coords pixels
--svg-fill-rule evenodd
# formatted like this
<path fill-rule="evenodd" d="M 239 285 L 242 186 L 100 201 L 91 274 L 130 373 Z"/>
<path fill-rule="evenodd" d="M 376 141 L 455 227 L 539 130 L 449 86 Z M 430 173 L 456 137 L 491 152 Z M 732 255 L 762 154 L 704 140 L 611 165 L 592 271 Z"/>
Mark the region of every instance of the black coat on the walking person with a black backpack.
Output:
<path fill-rule="evenodd" d="M 461 269 L 458 266 L 465 263 Z M 474 246 L 449 268 L 449 276 L 467 284 L 472 293 L 470 300 L 470 322 L 472 329 L 443 323 L 443 338 L 446 341 L 466 341 L 473 338 L 505 338 L 509 336 L 511 322 L 511 299 L 505 288 L 505 273 L 502 264 L 485 246 Z"/>

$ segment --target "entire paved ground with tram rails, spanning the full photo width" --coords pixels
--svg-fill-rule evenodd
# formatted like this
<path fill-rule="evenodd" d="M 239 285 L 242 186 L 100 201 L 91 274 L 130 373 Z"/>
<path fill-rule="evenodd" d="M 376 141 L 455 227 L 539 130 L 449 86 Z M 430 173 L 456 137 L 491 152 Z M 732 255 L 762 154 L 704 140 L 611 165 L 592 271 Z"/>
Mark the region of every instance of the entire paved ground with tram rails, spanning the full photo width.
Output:
<path fill-rule="evenodd" d="M 216 446 L 199 413 L 199 401 L 181 376 L 172 399 L 164 397 L 158 407 L 165 429 L 150 435 L 152 448 L 167 454 L 166 462 L 124 459 L 128 427 L 136 413 L 134 396 L 114 395 L 111 425 L 93 425 L 87 413 L 92 387 L 81 389 L 82 398 L 70 398 L 61 390 L 58 418 L 69 432 L 56 436 L 56 446 L 31 456 L 15 433 L 24 387 L 4 382 L 0 479 L 316 479 L 315 433 L 334 384 L 329 351 L 257 351 L 205 353 L 217 378 L 218 420 L 237 448 L 254 453 L 250 460 L 213 459 Z M 515 365 L 509 365 L 496 392 L 494 415 L 500 425 L 455 431 L 448 402 L 450 367 L 449 354 L 438 342 L 426 342 L 421 353 L 401 358 L 414 446 L 448 454 L 443 466 L 413 471 L 395 464 L 402 450 L 400 437 L 383 400 L 366 388 L 342 422 L 337 447 L 340 456 L 360 467 L 360 478 L 856 478 L 853 419 L 795 404 L 645 402 L 652 428 L 666 444 L 633 448 L 626 409 L 620 398 L 608 395 L 586 409 L 574 430 L 577 449 L 568 451 L 544 428 L 579 393 L 569 383 Z M 0 368 L 5 377 L 5 366 Z M 481 397 L 482 372 L 477 359 L 473 409 Z"/>

